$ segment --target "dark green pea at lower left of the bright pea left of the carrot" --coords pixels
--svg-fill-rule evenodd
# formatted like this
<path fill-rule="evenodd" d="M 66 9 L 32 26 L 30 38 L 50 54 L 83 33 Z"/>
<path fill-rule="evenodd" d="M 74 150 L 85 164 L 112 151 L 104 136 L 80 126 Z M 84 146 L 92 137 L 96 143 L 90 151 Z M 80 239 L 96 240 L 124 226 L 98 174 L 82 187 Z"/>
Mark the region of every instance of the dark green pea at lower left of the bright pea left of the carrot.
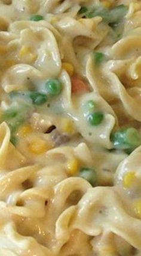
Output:
<path fill-rule="evenodd" d="M 30 99 L 32 99 L 32 102 L 34 105 L 43 105 L 45 102 L 47 102 L 47 95 L 43 93 L 39 93 L 38 91 L 33 91 L 29 94 Z"/>

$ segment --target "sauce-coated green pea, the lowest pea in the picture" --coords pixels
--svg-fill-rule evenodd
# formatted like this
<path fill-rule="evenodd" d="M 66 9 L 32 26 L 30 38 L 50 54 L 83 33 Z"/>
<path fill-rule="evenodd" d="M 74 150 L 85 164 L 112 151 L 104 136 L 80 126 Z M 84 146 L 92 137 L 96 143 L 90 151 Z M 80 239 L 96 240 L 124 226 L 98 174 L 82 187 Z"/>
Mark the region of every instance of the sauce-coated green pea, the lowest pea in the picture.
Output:
<path fill-rule="evenodd" d="M 96 184 L 96 171 L 93 168 L 84 167 L 80 169 L 79 177 L 85 178 L 92 186 Z"/>

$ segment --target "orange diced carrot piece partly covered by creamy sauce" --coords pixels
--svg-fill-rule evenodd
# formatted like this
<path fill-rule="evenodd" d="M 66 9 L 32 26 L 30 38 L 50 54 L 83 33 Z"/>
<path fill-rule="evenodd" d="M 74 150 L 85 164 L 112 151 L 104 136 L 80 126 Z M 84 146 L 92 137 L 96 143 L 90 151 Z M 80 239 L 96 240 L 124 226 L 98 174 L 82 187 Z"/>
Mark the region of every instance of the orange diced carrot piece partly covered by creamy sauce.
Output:
<path fill-rule="evenodd" d="M 85 84 L 85 82 L 82 81 L 82 79 L 79 78 L 78 76 L 72 76 L 71 82 L 72 82 L 72 93 L 86 93 L 90 91 L 90 89 L 88 88 L 88 85 Z"/>

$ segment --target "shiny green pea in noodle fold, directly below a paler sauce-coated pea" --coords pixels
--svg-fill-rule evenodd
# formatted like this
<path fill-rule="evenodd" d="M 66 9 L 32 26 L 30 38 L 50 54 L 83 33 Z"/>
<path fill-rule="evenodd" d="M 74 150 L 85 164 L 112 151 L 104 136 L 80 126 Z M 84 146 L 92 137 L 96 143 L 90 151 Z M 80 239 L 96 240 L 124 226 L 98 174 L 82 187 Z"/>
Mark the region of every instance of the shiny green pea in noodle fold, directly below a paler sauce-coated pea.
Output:
<path fill-rule="evenodd" d="M 102 112 L 93 112 L 87 116 L 88 123 L 91 126 L 97 126 L 102 123 L 104 115 Z"/>

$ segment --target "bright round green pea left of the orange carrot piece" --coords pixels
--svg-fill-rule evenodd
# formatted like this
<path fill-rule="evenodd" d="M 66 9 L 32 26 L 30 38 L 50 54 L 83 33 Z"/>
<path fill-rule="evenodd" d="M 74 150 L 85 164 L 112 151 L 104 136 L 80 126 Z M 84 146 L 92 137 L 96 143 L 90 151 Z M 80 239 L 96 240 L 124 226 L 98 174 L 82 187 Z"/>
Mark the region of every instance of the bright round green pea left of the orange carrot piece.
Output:
<path fill-rule="evenodd" d="M 50 79 L 45 83 L 45 88 L 48 94 L 56 96 L 62 91 L 62 83 L 58 79 Z"/>

